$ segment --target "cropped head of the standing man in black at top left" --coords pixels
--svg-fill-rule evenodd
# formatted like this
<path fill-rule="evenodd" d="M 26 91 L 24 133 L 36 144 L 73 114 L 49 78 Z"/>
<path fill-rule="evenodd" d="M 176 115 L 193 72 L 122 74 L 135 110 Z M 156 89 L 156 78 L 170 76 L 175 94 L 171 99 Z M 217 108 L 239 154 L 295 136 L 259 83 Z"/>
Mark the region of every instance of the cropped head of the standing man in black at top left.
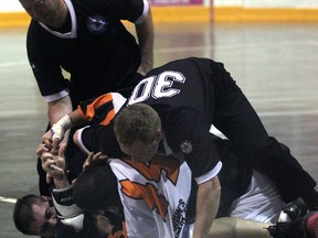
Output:
<path fill-rule="evenodd" d="M 62 8 L 65 8 L 63 0 L 19 0 L 26 13 L 34 19 L 50 26 L 60 18 Z M 67 11 L 67 7 L 66 7 Z"/>

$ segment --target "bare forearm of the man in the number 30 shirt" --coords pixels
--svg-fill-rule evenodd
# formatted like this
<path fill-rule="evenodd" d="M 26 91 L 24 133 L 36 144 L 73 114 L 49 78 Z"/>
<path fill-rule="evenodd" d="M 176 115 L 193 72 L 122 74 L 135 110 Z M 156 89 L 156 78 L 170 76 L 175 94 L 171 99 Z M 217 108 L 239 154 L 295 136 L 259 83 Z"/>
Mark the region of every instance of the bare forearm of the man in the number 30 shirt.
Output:
<path fill-rule="evenodd" d="M 221 185 L 218 176 L 199 185 L 193 238 L 209 237 L 219 209 L 220 196 Z"/>

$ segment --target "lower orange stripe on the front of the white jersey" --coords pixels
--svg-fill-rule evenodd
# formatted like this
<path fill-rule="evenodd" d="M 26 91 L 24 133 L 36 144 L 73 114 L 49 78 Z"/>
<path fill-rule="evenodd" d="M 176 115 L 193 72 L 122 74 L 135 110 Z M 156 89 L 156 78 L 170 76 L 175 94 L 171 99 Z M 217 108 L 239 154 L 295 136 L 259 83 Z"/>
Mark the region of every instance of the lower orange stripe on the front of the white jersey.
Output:
<path fill-rule="evenodd" d="M 152 184 L 137 184 L 129 180 L 120 181 L 121 192 L 135 199 L 144 199 L 151 210 L 157 207 L 157 213 L 163 220 L 168 213 L 168 205 L 165 196 L 158 194 L 157 187 Z"/>

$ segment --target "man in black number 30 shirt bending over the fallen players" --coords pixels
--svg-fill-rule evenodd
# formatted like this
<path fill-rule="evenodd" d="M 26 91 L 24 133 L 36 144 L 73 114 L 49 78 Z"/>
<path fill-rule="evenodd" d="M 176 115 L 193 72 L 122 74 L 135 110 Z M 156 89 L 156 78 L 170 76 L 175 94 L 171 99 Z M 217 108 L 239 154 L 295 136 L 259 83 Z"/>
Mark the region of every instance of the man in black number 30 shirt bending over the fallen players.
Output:
<path fill-rule="evenodd" d="M 316 182 L 288 148 L 267 134 L 223 64 L 208 58 L 179 60 L 149 72 L 116 115 L 115 130 L 112 123 L 86 128 L 77 142 L 88 151 L 112 158 L 120 158 L 124 151 L 131 160 L 144 162 L 158 152 L 182 152 L 199 185 L 195 237 L 206 234 L 219 206 L 222 163 L 210 139 L 211 125 L 255 170 L 273 180 L 284 202 L 301 197 L 310 209 L 318 206 Z"/>

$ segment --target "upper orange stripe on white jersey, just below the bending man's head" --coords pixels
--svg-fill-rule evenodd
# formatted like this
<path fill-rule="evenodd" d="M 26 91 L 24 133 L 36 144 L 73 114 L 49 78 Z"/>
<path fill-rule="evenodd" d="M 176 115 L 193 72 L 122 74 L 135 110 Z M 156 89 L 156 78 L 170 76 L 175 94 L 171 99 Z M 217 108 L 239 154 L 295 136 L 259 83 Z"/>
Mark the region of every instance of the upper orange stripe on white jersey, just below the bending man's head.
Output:
<path fill-rule="evenodd" d="M 167 177 L 171 181 L 171 183 L 174 185 L 177 183 L 180 172 L 180 161 L 176 158 L 156 154 L 148 165 L 142 162 L 131 161 L 129 159 L 125 159 L 124 161 L 149 181 L 158 182 L 160 180 L 161 171 L 165 170 L 167 172 Z"/>

